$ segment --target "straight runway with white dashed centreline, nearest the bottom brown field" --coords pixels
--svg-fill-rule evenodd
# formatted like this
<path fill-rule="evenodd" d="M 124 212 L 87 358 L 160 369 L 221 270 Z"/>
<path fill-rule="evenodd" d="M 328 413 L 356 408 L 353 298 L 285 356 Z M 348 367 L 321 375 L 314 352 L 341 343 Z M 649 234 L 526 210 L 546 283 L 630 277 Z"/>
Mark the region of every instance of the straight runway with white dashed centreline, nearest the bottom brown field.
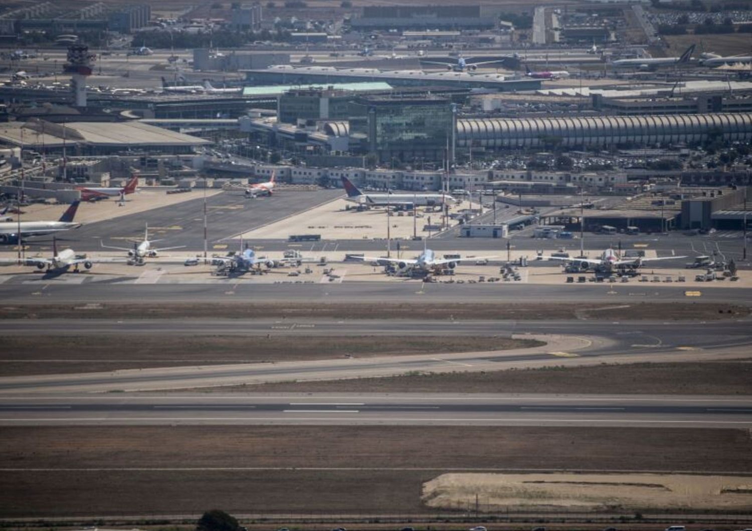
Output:
<path fill-rule="evenodd" d="M 752 427 L 752 399 L 274 394 L 0 397 L 0 425 L 390 424 Z"/>

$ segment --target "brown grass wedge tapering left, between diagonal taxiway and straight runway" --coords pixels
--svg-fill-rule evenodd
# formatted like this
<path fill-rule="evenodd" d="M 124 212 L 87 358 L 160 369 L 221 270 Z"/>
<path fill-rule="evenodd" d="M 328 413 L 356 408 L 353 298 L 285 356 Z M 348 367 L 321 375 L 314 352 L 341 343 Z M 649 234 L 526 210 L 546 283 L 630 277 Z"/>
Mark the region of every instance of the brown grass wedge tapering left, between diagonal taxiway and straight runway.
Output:
<path fill-rule="evenodd" d="M 552 362 L 553 363 L 553 362 Z M 752 394 L 752 363 L 603 364 L 332 382 L 283 382 L 203 392 Z"/>

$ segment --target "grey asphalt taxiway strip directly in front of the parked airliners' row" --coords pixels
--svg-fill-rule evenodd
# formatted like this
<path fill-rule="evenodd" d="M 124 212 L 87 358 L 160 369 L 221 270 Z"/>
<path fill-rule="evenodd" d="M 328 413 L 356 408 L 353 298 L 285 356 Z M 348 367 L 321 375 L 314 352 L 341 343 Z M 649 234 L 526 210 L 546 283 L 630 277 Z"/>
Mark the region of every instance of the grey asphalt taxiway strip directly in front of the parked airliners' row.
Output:
<path fill-rule="evenodd" d="M 139 272 L 140 273 L 140 272 Z M 3 303 L 640 303 L 696 302 L 750 303 L 745 289 L 709 288 L 665 284 L 543 285 L 496 283 L 423 284 L 405 282 L 350 282 L 338 284 L 255 284 L 225 279 L 214 284 L 119 284 L 134 277 L 68 275 L 80 283 L 54 283 L 15 275 L 0 284 Z M 701 297 L 686 295 L 699 292 Z M 86 309 L 81 309 L 86 312 Z M 669 318 L 670 316 L 667 316 Z"/>

